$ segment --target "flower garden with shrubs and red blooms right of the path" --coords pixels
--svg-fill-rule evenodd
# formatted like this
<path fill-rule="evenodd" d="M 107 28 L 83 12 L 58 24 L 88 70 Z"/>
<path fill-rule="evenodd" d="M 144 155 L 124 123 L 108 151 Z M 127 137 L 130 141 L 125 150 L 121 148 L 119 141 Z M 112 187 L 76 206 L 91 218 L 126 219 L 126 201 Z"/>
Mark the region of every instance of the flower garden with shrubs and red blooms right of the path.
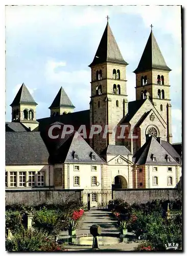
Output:
<path fill-rule="evenodd" d="M 165 244 L 182 247 L 182 204 L 176 201 L 152 201 L 128 204 L 124 200 L 110 201 L 108 208 L 117 220 L 121 234 L 133 232 L 138 240 L 134 250 L 166 250 Z"/>

